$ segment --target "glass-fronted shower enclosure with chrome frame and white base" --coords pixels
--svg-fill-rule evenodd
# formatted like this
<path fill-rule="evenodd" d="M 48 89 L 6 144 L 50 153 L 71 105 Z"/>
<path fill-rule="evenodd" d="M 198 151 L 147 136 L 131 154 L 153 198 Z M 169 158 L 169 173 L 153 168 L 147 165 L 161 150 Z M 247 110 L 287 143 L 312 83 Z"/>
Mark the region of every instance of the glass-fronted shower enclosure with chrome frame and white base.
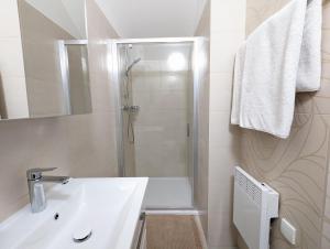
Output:
<path fill-rule="evenodd" d="M 194 208 L 198 39 L 117 40 L 121 176 L 150 177 L 148 209 Z"/>

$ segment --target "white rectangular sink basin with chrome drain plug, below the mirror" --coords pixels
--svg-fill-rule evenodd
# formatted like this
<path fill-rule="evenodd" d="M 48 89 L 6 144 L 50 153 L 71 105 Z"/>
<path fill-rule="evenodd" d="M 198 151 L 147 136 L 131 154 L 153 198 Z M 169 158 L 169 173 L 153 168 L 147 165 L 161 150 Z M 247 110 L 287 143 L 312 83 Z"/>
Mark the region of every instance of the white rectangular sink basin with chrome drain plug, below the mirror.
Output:
<path fill-rule="evenodd" d="M 56 185 L 44 212 L 32 214 L 26 205 L 0 224 L 0 249 L 129 249 L 146 184 L 147 178 L 72 178 Z M 89 231 L 86 241 L 74 241 Z"/>

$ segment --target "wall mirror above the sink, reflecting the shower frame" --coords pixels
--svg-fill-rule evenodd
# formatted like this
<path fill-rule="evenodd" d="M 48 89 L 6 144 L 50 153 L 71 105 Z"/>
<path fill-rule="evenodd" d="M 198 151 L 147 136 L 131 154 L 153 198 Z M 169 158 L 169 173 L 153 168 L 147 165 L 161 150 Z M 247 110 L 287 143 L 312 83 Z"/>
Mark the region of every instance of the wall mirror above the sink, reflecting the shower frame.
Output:
<path fill-rule="evenodd" d="M 91 112 L 85 1 L 18 0 L 18 7 L 24 80 L 0 78 L 1 120 Z"/>

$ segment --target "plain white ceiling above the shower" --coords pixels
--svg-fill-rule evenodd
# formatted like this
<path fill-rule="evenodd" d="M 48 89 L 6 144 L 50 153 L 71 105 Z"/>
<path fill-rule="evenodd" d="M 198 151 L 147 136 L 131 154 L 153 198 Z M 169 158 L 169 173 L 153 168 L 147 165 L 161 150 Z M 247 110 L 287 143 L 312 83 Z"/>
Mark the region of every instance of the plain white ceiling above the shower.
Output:
<path fill-rule="evenodd" d="M 206 0 L 96 0 L 123 39 L 193 36 Z"/>

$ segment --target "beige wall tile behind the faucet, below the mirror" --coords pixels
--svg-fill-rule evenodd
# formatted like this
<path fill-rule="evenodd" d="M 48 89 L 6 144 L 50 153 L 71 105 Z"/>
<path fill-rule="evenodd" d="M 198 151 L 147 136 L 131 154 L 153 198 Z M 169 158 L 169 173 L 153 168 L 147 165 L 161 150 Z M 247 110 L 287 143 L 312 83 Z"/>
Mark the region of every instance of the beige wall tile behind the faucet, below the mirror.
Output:
<path fill-rule="evenodd" d="M 7 141 L 1 143 L 1 220 L 28 203 L 25 171 L 29 167 L 59 166 L 57 173 L 68 173 L 65 160 L 59 160 L 66 156 L 64 130 L 61 121 L 52 119 L 0 123 L 2 141 Z"/>

